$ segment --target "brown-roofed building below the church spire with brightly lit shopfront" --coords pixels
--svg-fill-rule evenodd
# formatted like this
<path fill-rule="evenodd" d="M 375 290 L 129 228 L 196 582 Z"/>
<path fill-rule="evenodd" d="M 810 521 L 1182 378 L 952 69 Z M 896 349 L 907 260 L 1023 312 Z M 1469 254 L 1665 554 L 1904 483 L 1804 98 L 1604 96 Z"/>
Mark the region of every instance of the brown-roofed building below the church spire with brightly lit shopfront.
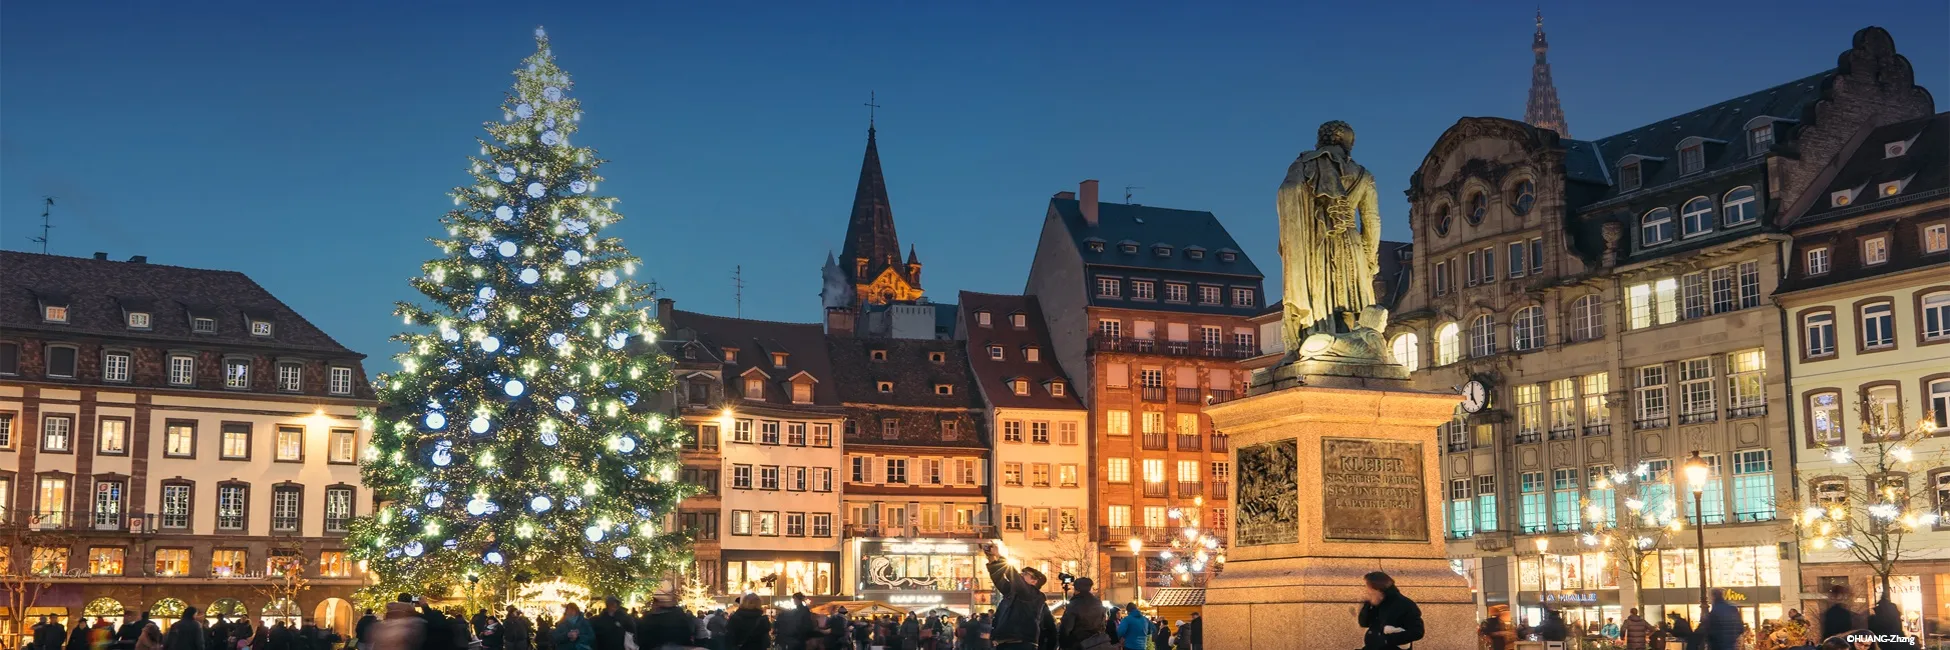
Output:
<path fill-rule="evenodd" d="M 844 584 L 854 597 L 989 607 L 991 426 L 952 340 L 829 338 L 844 424 Z"/>

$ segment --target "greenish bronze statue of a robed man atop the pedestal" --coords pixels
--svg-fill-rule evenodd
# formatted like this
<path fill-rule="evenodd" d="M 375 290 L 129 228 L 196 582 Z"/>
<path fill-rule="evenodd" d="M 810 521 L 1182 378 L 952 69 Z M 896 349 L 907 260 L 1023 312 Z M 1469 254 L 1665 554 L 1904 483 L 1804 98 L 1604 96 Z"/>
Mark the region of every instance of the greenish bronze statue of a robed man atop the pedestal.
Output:
<path fill-rule="evenodd" d="M 1353 316 L 1375 305 L 1381 211 L 1375 176 L 1349 150 L 1353 127 L 1324 123 L 1316 148 L 1293 160 L 1279 183 L 1285 361 L 1299 359 L 1308 334 L 1353 330 Z"/>

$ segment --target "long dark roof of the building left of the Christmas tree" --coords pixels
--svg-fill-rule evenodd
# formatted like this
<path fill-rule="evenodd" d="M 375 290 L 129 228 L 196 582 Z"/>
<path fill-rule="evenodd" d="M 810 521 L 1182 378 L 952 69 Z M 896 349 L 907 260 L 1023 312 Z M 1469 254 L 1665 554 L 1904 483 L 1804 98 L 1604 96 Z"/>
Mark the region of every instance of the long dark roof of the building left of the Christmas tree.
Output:
<path fill-rule="evenodd" d="M 304 320 L 240 271 L 191 269 L 107 256 L 66 258 L 0 250 L 0 328 L 94 334 L 121 340 L 234 344 L 365 359 Z M 66 303 L 68 322 L 41 320 L 41 301 Z M 148 330 L 131 330 L 125 310 L 150 310 Z M 191 314 L 216 332 L 193 334 Z M 252 336 L 248 320 L 269 320 Z"/>

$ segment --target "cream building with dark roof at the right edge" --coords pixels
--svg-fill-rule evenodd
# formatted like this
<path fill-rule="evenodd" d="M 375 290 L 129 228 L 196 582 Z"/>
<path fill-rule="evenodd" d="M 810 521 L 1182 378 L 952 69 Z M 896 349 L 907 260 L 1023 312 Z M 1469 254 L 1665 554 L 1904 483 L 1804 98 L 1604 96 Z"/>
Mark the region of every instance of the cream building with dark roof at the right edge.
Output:
<path fill-rule="evenodd" d="M 1794 236 L 1774 293 L 1788 322 L 1790 439 L 1802 504 L 1814 506 L 1868 488 L 1860 467 L 1835 457 L 1876 463 L 1864 410 L 1950 431 L 1950 113 L 1860 129 L 1780 223 Z M 1903 537 L 1890 591 L 1921 632 L 1921 619 L 1950 619 L 1950 441 L 1938 433 L 1911 453 L 1911 506 L 1938 521 Z M 1800 574 L 1808 593 L 1849 586 L 1856 607 L 1878 593 L 1868 566 L 1833 547 L 1804 548 Z"/>

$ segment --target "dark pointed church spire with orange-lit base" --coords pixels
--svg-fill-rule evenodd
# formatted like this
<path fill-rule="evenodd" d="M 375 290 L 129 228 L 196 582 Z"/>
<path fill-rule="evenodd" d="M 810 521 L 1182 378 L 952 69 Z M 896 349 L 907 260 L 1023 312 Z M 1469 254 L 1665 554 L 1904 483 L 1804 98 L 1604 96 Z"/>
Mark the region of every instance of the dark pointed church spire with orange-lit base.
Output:
<path fill-rule="evenodd" d="M 909 258 L 913 260 L 913 252 Z M 893 232 L 893 205 L 887 201 L 874 127 L 866 129 L 866 158 L 860 162 L 860 185 L 854 189 L 838 264 L 854 285 L 856 308 L 920 299 L 920 264 L 901 264 L 901 238 Z"/>

